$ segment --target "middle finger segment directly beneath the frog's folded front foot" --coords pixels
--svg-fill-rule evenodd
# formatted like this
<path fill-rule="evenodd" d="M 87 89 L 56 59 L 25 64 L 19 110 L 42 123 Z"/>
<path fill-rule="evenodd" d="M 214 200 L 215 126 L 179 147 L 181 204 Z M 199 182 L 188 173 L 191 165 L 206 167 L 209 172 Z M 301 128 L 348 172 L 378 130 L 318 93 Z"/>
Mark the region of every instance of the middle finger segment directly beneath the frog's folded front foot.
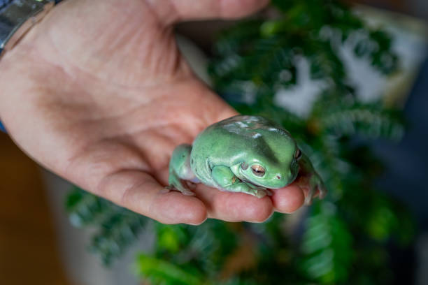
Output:
<path fill-rule="evenodd" d="M 273 207 L 271 199 L 257 198 L 245 193 L 220 191 L 199 184 L 195 190 L 208 211 L 208 217 L 224 221 L 262 222 L 268 219 Z"/>

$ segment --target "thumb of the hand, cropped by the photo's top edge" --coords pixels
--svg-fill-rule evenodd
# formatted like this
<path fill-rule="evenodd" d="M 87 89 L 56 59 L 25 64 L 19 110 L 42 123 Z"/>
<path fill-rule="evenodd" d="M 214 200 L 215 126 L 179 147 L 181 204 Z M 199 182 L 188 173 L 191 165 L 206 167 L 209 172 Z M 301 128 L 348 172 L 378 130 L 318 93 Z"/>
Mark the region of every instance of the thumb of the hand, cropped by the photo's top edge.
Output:
<path fill-rule="evenodd" d="M 268 0 L 170 0 L 151 1 L 152 7 L 164 24 L 214 18 L 233 19 L 255 13 L 266 6 Z M 171 15 L 174 15 L 171 17 Z"/>

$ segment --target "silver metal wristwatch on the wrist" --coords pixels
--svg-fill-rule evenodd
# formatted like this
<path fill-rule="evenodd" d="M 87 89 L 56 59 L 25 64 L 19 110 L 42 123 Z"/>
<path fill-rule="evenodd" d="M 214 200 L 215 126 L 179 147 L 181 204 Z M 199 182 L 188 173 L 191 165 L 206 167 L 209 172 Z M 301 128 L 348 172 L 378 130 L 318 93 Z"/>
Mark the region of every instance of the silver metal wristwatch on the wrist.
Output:
<path fill-rule="evenodd" d="M 0 57 L 55 5 L 54 0 L 0 0 Z"/>

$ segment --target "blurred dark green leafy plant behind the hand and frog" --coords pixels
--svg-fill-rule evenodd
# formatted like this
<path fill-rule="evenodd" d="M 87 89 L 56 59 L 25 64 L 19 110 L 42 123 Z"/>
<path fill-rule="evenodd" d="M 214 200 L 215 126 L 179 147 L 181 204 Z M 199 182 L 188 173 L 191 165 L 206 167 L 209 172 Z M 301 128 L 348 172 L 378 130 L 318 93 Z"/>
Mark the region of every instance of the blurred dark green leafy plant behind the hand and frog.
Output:
<path fill-rule="evenodd" d="M 350 44 L 357 57 L 389 75 L 398 68 L 391 39 L 338 1 L 272 2 L 280 11 L 274 19 L 245 20 L 220 35 L 211 78 L 239 112 L 285 126 L 329 196 L 308 208 L 299 231 L 290 230 L 283 214 L 263 224 L 166 226 L 76 190 L 68 202 L 71 219 L 99 228 L 92 249 L 106 264 L 150 224 L 157 242 L 135 265 L 150 284 L 389 284 L 394 277 L 386 244 L 411 242 L 413 219 L 373 188 L 382 166 L 367 142 L 397 140 L 404 126 L 382 101 L 359 101 L 338 56 L 338 48 Z M 297 58 L 308 61 L 311 78 L 324 82 L 304 117 L 274 104 L 278 90 L 297 84 Z"/>

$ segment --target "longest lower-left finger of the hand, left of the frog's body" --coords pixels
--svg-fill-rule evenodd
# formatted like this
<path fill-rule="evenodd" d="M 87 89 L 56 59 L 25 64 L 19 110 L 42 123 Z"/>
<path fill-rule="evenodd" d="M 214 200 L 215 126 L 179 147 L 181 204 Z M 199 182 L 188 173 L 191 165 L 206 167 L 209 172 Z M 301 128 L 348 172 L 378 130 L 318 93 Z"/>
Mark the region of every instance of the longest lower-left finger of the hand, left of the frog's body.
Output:
<path fill-rule="evenodd" d="M 196 225 L 206 220 L 206 207 L 201 200 L 163 190 L 147 173 L 122 170 L 103 179 L 99 195 L 163 224 Z"/>

